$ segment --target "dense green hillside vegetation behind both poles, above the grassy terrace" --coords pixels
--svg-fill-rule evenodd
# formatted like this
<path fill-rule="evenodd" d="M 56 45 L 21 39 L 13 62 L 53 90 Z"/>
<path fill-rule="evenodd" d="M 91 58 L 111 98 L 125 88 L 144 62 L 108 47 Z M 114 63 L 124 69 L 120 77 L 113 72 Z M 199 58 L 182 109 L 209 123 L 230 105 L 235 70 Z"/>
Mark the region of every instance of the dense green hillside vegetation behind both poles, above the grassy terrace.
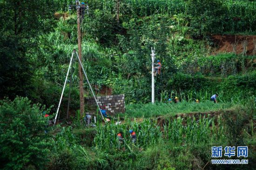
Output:
<path fill-rule="evenodd" d="M 76 16 L 74 11 L 65 12 L 67 4 L 73 3 L 70 0 L 54 0 L 51 6 L 48 5 L 49 1 L 37 3 L 41 4 L 40 8 L 36 8 L 33 13 L 26 9 L 36 6 L 34 1 L 1 3 L 4 10 L 0 16 L 1 20 L 5 20 L 1 32 L 5 36 L 0 43 L 0 83 L 3 87 L 0 97 L 27 96 L 35 103 L 56 107 L 61 91 L 58 84 L 63 82 L 68 60 L 77 43 Z M 238 78 L 237 74 L 248 72 L 251 75 L 250 72 L 255 70 L 253 56 L 209 56 L 214 47 L 209 37 L 211 33 L 255 32 L 253 1 L 236 0 L 236 3 L 232 3 L 230 0 L 120 0 L 119 3 L 119 20 L 116 20 L 116 1 L 90 1 L 89 15 L 85 16 L 81 24 L 83 62 L 94 87 L 108 86 L 114 93 L 125 93 L 127 103 L 150 101 L 148 85 L 151 80 L 151 46 L 155 46 L 156 58 L 162 62 L 162 74 L 155 78 L 156 96 L 159 100 L 161 92 L 166 91 L 172 95 L 173 91 L 196 92 L 203 87 L 202 93 L 223 91 L 227 96 L 225 100 L 230 101 L 233 92 L 225 91 L 229 88 L 227 83 L 213 87 L 211 78 L 209 81 L 201 78 L 199 81 L 203 81 L 204 85 L 191 81 L 184 83 L 188 79 L 177 76 L 188 74 L 187 77 L 195 76 L 198 80 L 199 73 L 202 76 L 235 75 Z M 7 9 L 14 4 L 18 8 L 6 20 L 4 16 Z M 19 13 L 27 14 L 23 16 Z M 43 13 L 43 17 L 39 17 L 39 13 Z M 16 16 L 20 16 L 17 22 Z M 33 18 L 33 26 L 21 24 L 23 21 L 28 22 L 27 18 Z M 56 22 L 57 25 L 54 25 Z M 243 28 L 238 25 L 243 25 Z M 15 33 L 15 26 L 20 28 L 20 32 Z M 25 36 L 28 34 L 30 38 Z M 78 65 L 75 64 L 73 87 L 78 86 L 77 72 Z M 217 79 L 226 82 L 232 78 Z M 254 83 L 251 82 L 251 88 L 248 89 L 251 95 L 255 95 Z M 227 86 L 224 87 L 225 85 Z M 244 90 L 237 83 L 232 85 L 236 89 Z M 75 101 L 78 99 L 78 89 L 73 89 L 71 105 L 72 109 L 77 110 Z M 87 85 L 85 89 L 88 89 Z M 68 95 L 67 91 L 64 95 Z"/>

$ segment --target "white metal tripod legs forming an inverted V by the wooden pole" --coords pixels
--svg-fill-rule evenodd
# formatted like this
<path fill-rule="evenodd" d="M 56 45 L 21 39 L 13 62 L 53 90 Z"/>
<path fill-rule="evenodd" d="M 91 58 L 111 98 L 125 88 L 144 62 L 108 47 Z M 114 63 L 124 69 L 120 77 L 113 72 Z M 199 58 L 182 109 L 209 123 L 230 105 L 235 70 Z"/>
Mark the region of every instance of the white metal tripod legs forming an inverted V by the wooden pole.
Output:
<path fill-rule="evenodd" d="M 83 70 L 83 73 L 84 73 L 85 78 L 86 78 L 86 80 L 87 80 L 87 83 L 88 83 L 88 85 L 89 85 L 89 87 L 90 87 L 90 89 L 91 89 L 91 92 L 93 93 L 94 100 L 95 100 L 95 102 L 96 102 L 96 104 L 97 104 L 97 107 L 98 107 L 99 110 L 100 110 L 100 113 L 101 113 L 101 108 L 100 108 L 100 106 L 99 106 L 99 104 L 98 104 L 98 102 L 97 102 L 97 99 L 96 99 L 95 95 L 94 95 L 94 91 L 93 91 L 93 89 L 92 89 L 92 86 L 91 86 L 91 84 L 90 84 L 88 78 L 87 78 L 87 74 L 86 74 L 86 72 L 85 72 L 85 70 L 84 70 L 84 67 L 83 67 L 83 65 L 82 65 L 82 63 L 81 63 L 81 60 L 79 59 L 78 53 L 77 53 L 77 52 L 75 51 L 75 49 L 74 49 L 73 52 L 72 52 L 72 56 L 71 56 L 71 59 L 70 59 L 70 62 L 69 62 L 69 66 L 68 66 L 68 69 L 67 69 L 66 79 L 65 79 L 65 82 L 64 82 L 64 85 L 63 85 L 63 89 L 62 89 L 62 92 L 61 92 L 61 99 L 60 99 L 60 102 L 59 102 L 59 105 L 58 105 L 58 109 L 57 109 L 57 112 L 56 112 L 56 115 L 55 115 L 55 118 L 54 118 L 54 125 L 55 125 L 55 122 L 56 122 L 56 119 L 57 119 L 57 116 L 58 116 L 58 113 L 59 113 L 59 110 L 60 110 L 61 100 L 62 100 L 63 93 L 64 93 L 64 90 L 65 90 L 65 86 L 66 86 L 66 83 L 67 83 L 68 73 L 69 73 L 69 70 L 70 70 L 71 65 L 72 65 L 72 63 L 73 63 L 74 53 L 76 54 L 77 59 L 78 59 L 78 62 L 79 62 L 79 64 L 80 64 L 81 67 L 82 67 L 82 70 Z M 69 91 L 70 91 L 70 88 L 69 88 Z M 70 92 L 69 92 L 69 96 L 70 96 Z M 69 105 L 69 102 L 68 102 L 68 105 Z M 102 113 L 101 113 L 101 118 L 102 118 L 102 120 L 105 122 L 105 119 L 103 118 Z"/>

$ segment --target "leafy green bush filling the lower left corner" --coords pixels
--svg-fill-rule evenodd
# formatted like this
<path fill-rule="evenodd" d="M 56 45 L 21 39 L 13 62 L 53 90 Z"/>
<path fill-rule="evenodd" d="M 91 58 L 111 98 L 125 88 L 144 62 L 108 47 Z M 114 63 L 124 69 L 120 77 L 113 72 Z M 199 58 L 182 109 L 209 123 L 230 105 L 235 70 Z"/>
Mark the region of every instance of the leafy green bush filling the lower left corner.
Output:
<path fill-rule="evenodd" d="M 0 169 L 43 169 L 48 162 L 48 119 L 42 114 L 45 108 L 40 107 L 31 105 L 28 98 L 0 101 Z"/>

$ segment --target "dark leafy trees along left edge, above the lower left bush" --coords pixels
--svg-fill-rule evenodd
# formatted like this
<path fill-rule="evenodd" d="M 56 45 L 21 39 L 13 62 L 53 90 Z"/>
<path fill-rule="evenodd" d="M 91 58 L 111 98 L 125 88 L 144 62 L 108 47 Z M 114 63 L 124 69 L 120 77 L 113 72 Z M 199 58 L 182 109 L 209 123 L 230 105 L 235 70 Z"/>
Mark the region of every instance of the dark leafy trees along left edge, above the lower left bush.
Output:
<path fill-rule="evenodd" d="M 50 31 L 54 20 L 50 0 L 0 1 L 0 98 L 28 96 L 34 75 L 29 55 L 37 37 Z"/>

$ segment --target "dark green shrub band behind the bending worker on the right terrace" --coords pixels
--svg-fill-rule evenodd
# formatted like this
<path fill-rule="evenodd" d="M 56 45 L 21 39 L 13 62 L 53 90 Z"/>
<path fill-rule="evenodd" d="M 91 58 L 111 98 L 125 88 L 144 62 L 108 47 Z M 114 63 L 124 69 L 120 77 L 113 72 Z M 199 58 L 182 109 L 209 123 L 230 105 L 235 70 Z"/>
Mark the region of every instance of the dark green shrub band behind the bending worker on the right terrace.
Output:
<path fill-rule="evenodd" d="M 168 81 L 168 92 L 184 93 L 196 98 L 198 93 L 208 93 L 208 97 L 204 98 L 204 100 L 209 100 L 210 95 L 219 92 L 221 94 L 219 99 L 222 101 L 245 101 L 245 98 L 256 95 L 255 78 L 256 72 L 231 75 L 227 78 L 209 78 L 202 75 L 192 76 L 176 73 Z M 182 95 L 179 96 L 182 97 Z M 190 99 L 188 97 L 185 98 L 187 100 Z M 200 100 L 200 98 L 198 99 Z"/>

